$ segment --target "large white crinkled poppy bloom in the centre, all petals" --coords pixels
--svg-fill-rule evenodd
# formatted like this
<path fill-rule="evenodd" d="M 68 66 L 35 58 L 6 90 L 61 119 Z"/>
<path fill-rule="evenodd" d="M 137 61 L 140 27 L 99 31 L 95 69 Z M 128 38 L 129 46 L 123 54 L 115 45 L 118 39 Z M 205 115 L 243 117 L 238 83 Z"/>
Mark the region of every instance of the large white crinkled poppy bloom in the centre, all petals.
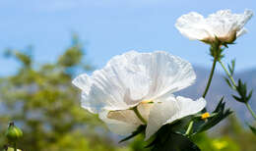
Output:
<path fill-rule="evenodd" d="M 73 83 L 82 89 L 82 107 L 98 114 L 110 130 L 128 134 L 147 125 L 146 139 L 160 126 L 200 112 L 206 101 L 172 93 L 196 78 L 190 63 L 163 51 L 130 51 L 113 57 L 92 76 Z M 137 113 L 136 113 L 137 112 Z"/>

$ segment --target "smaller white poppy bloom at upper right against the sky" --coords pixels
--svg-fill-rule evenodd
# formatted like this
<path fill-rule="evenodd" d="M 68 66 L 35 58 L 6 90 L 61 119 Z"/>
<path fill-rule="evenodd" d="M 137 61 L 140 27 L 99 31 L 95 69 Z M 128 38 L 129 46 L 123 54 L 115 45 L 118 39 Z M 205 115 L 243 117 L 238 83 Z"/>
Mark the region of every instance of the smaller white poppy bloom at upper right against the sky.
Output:
<path fill-rule="evenodd" d="M 231 43 L 246 32 L 243 26 L 252 16 L 253 12 L 249 10 L 245 10 L 243 14 L 221 10 L 205 19 L 202 15 L 191 12 L 181 16 L 175 26 L 181 34 L 191 40 L 212 43 L 218 37 L 222 42 Z"/>

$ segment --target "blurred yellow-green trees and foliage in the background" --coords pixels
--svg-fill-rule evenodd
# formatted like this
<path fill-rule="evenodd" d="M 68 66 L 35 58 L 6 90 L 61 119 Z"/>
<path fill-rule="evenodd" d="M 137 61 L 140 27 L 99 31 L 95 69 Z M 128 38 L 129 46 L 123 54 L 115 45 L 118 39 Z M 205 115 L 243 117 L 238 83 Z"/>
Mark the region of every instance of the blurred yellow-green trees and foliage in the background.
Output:
<path fill-rule="evenodd" d="M 0 78 L 0 147 L 7 143 L 4 131 L 13 121 L 24 131 L 18 148 L 25 151 L 148 151 L 143 136 L 118 144 L 98 120 L 80 106 L 80 91 L 71 80 L 90 73 L 86 52 L 77 36 L 56 62 L 38 65 L 30 53 L 8 50 L 6 56 L 21 63 L 13 76 Z M 221 135 L 206 133 L 193 138 L 203 151 L 255 151 L 256 137 L 234 118 Z M 0 148 L 1 149 L 1 148 Z"/>

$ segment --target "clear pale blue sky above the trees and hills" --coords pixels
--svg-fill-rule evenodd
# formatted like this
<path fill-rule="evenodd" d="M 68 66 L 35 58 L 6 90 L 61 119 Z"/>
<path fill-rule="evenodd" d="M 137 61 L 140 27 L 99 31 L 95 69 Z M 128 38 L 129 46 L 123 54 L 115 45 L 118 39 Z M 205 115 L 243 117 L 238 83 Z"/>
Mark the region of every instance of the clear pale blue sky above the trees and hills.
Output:
<path fill-rule="evenodd" d="M 129 50 L 165 50 L 195 66 L 210 68 L 208 46 L 190 41 L 174 27 L 176 19 L 196 11 L 204 16 L 221 9 L 256 13 L 255 0 L 1 0 L 0 54 L 6 48 L 33 46 L 39 62 L 53 62 L 77 32 L 88 57 L 101 68 L 112 56 Z M 256 19 L 249 32 L 226 51 L 224 61 L 236 58 L 237 71 L 256 68 Z M 0 57 L 0 76 L 14 74 L 14 60 Z"/>

